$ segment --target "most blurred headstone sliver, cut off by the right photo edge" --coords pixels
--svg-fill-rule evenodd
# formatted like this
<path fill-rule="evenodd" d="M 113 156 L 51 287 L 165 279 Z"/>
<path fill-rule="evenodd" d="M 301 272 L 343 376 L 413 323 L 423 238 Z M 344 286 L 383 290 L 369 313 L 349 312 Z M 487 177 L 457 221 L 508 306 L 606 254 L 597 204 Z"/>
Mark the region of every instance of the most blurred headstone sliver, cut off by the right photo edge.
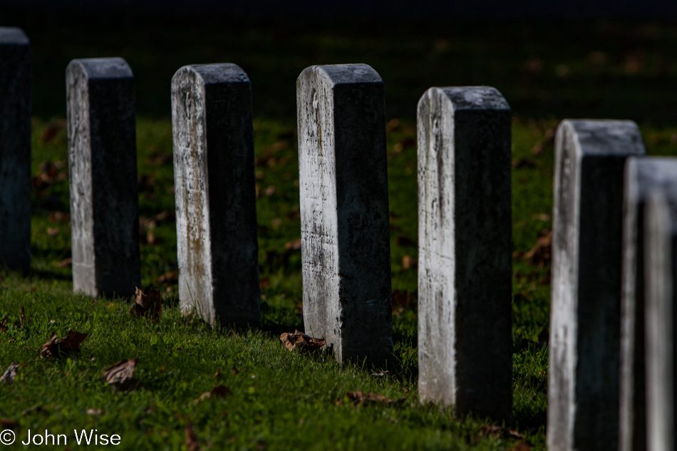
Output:
<path fill-rule="evenodd" d="M 675 185 L 652 190 L 646 202 L 645 212 L 646 447 L 650 451 L 673 451 L 677 431 Z"/>

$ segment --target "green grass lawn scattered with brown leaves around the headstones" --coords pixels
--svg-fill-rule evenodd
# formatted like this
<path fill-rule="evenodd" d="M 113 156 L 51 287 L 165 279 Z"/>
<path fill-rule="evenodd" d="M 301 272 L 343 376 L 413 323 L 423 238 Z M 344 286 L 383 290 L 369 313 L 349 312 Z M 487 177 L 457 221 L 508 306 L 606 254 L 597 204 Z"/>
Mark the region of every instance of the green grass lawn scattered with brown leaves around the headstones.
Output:
<path fill-rule="evenodd" d="M 125 16 L 118 28 L 96 17 L 0 19 L 31 38 L 34 74 L 33 264 L 28 275 L 0 273 L 0 370 L 20 364 L 14 382 L 0 385 L 1 429 L 17 437 L 11 446 L 22 447 L 29 430 L 48 430 L 66 435 L 53 448 L 76 450 L 85 445 L 73 431 L 95 430 L 120 435 L 118 448 L 130 450 L 543 450 L 554 130 L 562 118 L 629 118 L 648 153 L 676 155 L 677 26 L 221 19 Z M 160 321 L 131 316 L 131 299 L 72 292 L 64 71 L 72 58 L 96 56 L 122 56 L 135 72 L 140 288 L 160 289 Z M 186 64 L 217 62 L 239 64 L 252 80 L 256 329 L 210 328 L 178 309 L 170 80 Z M 386 85 L 395 341 L 388 368 L 341 365 L 279 341 L 303 328 L 295 80 L 322 63 L 368 63 Z M 415 108 L 433 85 L 493 85 L 513 110 L 512 425 L 457 418 L 418 400 Z M 43 343 L 69 328 L 88 333 L 81 350 L 41 358 Z M 130 358 L 138 359 L 139 384 L 115 390 L 104 370 Z M 356 391 L 393 402 L 355 403 L 348 393 Z"/>

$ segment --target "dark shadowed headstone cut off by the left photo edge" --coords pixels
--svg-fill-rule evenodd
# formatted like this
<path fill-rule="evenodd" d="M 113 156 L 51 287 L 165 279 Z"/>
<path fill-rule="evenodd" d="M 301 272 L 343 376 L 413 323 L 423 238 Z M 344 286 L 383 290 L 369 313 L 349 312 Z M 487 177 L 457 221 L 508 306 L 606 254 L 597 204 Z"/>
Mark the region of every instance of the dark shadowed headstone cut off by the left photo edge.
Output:
<path fill-rule="evenodd" d="M 0 264 L 31 267 L 31 43 L 0 27 Z"/>

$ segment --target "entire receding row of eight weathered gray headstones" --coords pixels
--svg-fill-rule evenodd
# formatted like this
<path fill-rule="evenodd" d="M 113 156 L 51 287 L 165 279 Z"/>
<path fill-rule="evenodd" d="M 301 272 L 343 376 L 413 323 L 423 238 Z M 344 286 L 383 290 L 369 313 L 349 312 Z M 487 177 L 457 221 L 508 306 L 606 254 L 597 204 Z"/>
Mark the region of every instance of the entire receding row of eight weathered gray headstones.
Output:
<path fill-rule="evenodd" d="M 9 265 L 21 249 L 29 259 L 29 240 L 11 229 L 30 229 L 29 72 L 28 40 L 0 28 Z M 129 296 L 140 281 L 132 71 L 121 58 L 73 60 L 66 83 L 73 289 Z M 339 361 L 383 363 L 393 349 L 383 81 L 351 64 L 311 66 L 296 83 L 305 330 Z M 260 321 L 251 96 L 234 64 L 185 66 L 172 78 L 180 305 L 210 323 Z M 494 88 L 430 88 L 418 104 L 420 399 L 506 422 L 510 128 Z M 642 157 L 630 121 L 565 120 L 555 151 L 549 447 L 673 443 L 677 160 Z"/>

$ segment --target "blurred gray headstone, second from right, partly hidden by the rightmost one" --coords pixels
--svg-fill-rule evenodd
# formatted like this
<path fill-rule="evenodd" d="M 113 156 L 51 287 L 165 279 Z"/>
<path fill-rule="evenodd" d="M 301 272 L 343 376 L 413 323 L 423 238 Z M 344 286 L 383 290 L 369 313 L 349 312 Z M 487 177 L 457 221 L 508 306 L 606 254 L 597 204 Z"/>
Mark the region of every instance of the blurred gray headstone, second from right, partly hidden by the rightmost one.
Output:
<path fill-rule="evenodd" d="M 646 449 L 644 366 L 644 208 L 654 189 L 677 190 L 677 159 L 631 157 L 626 162 L 621 296 L 619 450 Z"/>

